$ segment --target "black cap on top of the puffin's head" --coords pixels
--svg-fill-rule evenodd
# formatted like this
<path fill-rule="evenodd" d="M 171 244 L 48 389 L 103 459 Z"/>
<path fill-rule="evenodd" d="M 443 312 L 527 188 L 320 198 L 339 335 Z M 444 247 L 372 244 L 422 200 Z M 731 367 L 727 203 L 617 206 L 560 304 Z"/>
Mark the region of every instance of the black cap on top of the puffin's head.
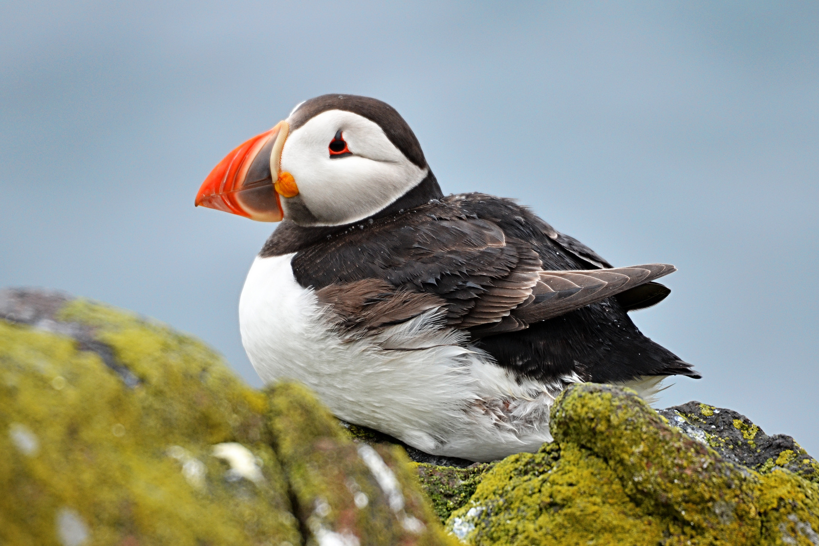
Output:
<path fill-rule="evenodd" d="M 361 97 L 360 95 L 328 94 L 310 98 L 302 102 L 288 118 L 290 130 L 294 131 L 318 116 L 323 111 L 343 110 L 363 116 L 369 121 L 378 124 L 387 135 L 387 139 L 403 153 L 409 161 L 420 168 L 427 166 L 423 157 L 421 144 L 415 134 L 409 129 L 404 118 L 387 102 L 377 98 Z"/>

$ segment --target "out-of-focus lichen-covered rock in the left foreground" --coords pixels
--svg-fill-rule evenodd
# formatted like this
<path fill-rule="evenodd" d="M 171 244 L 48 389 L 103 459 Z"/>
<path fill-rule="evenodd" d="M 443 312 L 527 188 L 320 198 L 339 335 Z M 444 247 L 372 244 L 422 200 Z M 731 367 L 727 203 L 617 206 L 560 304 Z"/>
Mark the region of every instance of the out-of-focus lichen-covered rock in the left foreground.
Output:
<path fill-rule="evenodd" d="M 297 385 L 60 293 L 0 291 L 0 317 L 0 544 L 452 542 L 405 455 Z"/>

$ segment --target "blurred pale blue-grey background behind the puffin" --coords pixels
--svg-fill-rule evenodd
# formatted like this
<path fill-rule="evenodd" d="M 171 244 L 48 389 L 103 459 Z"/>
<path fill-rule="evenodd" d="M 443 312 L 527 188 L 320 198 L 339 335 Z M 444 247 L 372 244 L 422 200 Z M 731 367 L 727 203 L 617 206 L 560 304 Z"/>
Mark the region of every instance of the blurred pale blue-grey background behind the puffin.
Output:
<path fill-rule="evenodd" d="M 274 225 L 193 198 L 305 98 L 396 107 L 445 193 L 518 198 L 615 266 L 632 318 L 819 456 L 816 2 L 3 2 L 0 287 L 165 321 L 260 385 L 238 296 Z"/>

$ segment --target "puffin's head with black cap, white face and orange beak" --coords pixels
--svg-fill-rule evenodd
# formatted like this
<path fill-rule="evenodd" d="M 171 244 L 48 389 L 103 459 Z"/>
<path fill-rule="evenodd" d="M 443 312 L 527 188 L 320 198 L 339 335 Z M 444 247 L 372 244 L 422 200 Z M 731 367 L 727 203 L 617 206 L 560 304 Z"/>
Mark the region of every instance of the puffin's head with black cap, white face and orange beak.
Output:
<path fill-rule="evenodd" d="M 393 107 L 322 95 L 230 152 L 196 205 L 257 221 L 343 225 L 381 211 L 429 174 L 418 139 Z"/>

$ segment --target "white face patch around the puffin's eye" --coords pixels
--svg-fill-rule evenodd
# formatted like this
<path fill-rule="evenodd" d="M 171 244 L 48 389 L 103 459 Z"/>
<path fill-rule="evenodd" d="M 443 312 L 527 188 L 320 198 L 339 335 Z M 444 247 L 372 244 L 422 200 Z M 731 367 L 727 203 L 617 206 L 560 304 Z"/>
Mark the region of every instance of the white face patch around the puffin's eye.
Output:
<path fill-rule="evenodd" d="M 337 131 L 351 156 L 331 158 L 329 144 Z M 300 200 L 314 216 L 310 225 L 342 225 L 359 221 L 387 207 L 428 174 L 410 162 L 373 121 L 350 111 L 328 110 L 287 136 L 281 170 L 293 175 Z M 291 215 L 292 217 L 293 215 Z M 303 223 L 299 221 L 298 223 Z"/>

